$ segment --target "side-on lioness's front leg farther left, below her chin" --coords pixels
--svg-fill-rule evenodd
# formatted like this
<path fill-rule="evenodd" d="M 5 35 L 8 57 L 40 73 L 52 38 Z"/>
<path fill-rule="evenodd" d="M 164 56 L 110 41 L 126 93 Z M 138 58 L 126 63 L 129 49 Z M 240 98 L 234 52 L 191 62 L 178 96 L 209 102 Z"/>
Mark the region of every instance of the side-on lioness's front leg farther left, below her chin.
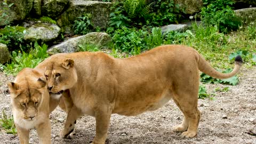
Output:
<path fill-rule="evenodd" d="M 70 138 L 70 133 L 75 129 L 76 119 L 82 115 L 82 111 L 76 106 L 73 106 L 69 113 L 64 125 L 64 129 L 60 133 L 61 138 Z"/>

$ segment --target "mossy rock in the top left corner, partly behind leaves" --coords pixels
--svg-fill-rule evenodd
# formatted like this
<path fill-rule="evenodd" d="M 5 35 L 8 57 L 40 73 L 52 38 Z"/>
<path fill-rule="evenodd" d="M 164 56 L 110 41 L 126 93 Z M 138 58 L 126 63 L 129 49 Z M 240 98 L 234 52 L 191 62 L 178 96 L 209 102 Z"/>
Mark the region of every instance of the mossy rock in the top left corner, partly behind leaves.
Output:
<path fill-rule="evenodd" d="M 4 0 L 0 0 L 0 16 L 5 13 L 5 17 L 0 21 L 0 26 L 5 25 L 5 21 L 10 23 L 12 21 L 23 20 L 30 12 L 34 0 L 8 0 L 7 5 L 3 5 Z M 11 7 L 8 5 L 12 4 Z"/>

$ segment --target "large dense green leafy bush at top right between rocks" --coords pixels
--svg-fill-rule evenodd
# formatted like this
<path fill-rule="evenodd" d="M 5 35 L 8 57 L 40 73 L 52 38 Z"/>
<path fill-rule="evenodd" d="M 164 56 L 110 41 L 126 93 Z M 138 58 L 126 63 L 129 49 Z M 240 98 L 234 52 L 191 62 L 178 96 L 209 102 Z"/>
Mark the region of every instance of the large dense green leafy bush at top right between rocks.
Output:
<path fill-rule="evenodd" d="M 242 20 L 236 17 L 231 5 L 233 0 L 204 0 L 201 19 L 206 25 L 217 25 L 221 32 L 237 30 Z"/>

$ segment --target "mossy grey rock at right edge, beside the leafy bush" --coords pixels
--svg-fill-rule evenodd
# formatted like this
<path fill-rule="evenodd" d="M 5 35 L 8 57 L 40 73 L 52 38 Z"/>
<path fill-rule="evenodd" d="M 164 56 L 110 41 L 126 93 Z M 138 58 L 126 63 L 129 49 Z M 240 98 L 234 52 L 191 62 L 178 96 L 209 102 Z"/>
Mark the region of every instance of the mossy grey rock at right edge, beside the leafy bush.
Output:
<path fill-rule="evenodd" d="M 247 23 L 256 20 L 256 7 L 235 10 L 235 13 L 238 17 L 241 17 L 241 19 Z"/>

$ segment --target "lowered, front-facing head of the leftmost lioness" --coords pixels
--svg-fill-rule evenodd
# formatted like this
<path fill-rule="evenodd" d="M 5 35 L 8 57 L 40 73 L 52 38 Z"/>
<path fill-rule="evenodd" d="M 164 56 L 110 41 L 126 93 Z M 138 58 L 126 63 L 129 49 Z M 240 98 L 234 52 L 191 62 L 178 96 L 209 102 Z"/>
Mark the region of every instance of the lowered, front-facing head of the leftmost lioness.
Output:
<path fill-rule="evenodd" d="M 8 83 L 11 92 L 14 121 L 26 123 L 37 119 L 38 107 L 45 105 L 45 95 L 49 97 L 46 79 L 37 70 L 25 68 L 14 82 Z"/>

